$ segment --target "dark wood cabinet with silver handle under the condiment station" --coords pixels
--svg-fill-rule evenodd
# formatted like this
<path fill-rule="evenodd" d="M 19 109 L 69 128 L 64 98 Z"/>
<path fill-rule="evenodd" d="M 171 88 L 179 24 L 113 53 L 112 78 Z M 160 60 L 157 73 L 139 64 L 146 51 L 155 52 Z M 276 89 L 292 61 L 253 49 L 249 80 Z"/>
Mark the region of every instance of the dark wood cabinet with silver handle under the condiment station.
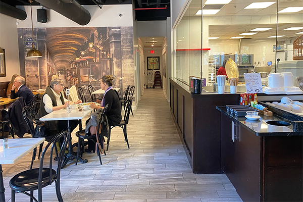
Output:
<path fill-rule="evenodd" d="M 303 201 L 302 134 L 258 136 L 239 119 L 221 111 L 221 166 L 242 200 Z"/>

